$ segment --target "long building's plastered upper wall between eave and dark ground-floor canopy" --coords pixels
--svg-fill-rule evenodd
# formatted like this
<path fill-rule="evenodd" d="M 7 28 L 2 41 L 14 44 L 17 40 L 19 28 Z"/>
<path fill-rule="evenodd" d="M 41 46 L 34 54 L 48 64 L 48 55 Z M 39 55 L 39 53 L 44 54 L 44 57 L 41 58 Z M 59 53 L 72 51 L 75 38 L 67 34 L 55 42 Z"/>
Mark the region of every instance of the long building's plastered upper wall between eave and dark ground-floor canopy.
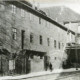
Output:
<path fill-rule="evenodd" d="M 43 19 L 39 23 L 39 17 L 28 11 L 24 11 L 24 16 L 21 16 L 20 8 L 16 7 L 15 12 L 12 12 L 12 6 L 6 3 L 4 4 L 4 10 L 0 12 L 0 43 L 3 48 L 8 49 L 11 53 L 19 53 L 21 50 L 21 30 L 25 30 L 24 49 L 47 52 L 47 54 L 49 54 L 49 51 L 53 51 L 52 54 L 54 54 L 55 50 L 61 51 L 64 49 L 67 42 L 66 31 Z M 13 40 L 12 28 L 16 28 L 17 30 L 16 40 Z M 33 33 L 33 43 L 30 43 L 30 33 Z M 39 43 L 40 35 L 42 35 L 42 45 Z M 49 46 L 47 38 L 50 39 Z M 56 48 L 54 47 L 54 40 L 56 40 Z M 31 64 L 36 65 L 37 63 L 33 63 L 32 61 Z M 43 66 L 42 61 L 40 64 Z"/>

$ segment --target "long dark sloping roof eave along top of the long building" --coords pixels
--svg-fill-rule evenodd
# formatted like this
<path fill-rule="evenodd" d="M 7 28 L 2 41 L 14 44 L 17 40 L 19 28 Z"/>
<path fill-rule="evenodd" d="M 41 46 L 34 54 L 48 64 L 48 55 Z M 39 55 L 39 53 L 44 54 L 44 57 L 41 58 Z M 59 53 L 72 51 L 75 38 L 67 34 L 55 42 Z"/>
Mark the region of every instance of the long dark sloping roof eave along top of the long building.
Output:
<path fill-rule="evenodd" d="M 50 23 L 52 23 L 52 24 L 54 24 L 54 25 L 57 25 L 59 28 L 65 30 L 65 31 L 68 31 L 68 30 L 69 30 L 69 29 L 66 28 L 64 25 L 62 25 L 62 24 L 54 21 L 53 19 L 51 19 L 50 17 L 48 17 L 48 16 L 46 16 L 46 15 L 40 13 L 38 10 L 33 9 L 32 7 L 30 7 L 29 5 L 27 5 L 27 4 L 24 3 L 23 1 L 7 1 L 7 2 L 10 3 L 10 4 L 13 4 L 13 5 L 15 5 L 15 6 L 19 7 L 19 8 L 23 8 L 24 10 L 29 11 L 29 12 L 31 12 L 32 14 L 34 14 L 34 15 L 36 15 L 36 16 L 38 16 L 38 17 L 41 17 L 41 18 L 43 18 L 44 20 L 46 20 L 46 21 L 48 21 L 48 22 L 50 22 Z M 72 34 L 75 34 L 74 31 L 72 31 L 72 30 L 69 30 L 69 31 L 70 31 Z"/>

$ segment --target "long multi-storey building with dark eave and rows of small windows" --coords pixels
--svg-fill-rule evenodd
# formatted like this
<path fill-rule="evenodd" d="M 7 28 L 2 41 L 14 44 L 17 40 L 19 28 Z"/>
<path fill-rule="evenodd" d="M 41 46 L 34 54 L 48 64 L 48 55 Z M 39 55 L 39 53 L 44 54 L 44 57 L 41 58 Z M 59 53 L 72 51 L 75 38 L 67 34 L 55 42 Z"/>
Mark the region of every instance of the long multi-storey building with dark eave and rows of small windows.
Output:
<path fill-rule="evenodd" d="M 4 63 L 6 70 L 2 65 L 4 57 L 0 55 L 1 72 L 26 74 L 43 71 L 49 69 L 49 63 L 53 68 L 62 68 L 67 57 L 62 50 L 68 31 L 73 40 L 75 32 L 52 20 L 42 10 L 33 8 L 29 2 L 1 1 L 0 6 L 0 49 L 7 50 L 10 56 L 4 59 L 7 61 Z"/>

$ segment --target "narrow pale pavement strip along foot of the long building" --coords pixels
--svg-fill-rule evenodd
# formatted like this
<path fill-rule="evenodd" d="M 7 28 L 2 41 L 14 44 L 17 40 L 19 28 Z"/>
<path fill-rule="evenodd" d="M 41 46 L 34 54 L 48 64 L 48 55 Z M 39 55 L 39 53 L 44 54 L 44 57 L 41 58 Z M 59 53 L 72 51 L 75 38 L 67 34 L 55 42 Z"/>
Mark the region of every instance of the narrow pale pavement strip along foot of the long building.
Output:
<path fill-rule="evenodd" d="M 33 72 L 29 74 L 24 74 L 24 75 L 13 75 L 13 76 L 2 76 L 0 77 L 0 80 L 14 80 L 14 79 L 28 79 L 32 77 L 37 77 L 37 76 L 43 76 L 43 75 L 49 75 L 49 74 L 59 74 L 59 73 L 67 73 L 67 72 L 78 72 L 80 71 L 80 68 L 76 70 L 76 68 L 70 68 L 70 69 L 55 69 L 53 71 L 42 71 L 42 72 Z"/>

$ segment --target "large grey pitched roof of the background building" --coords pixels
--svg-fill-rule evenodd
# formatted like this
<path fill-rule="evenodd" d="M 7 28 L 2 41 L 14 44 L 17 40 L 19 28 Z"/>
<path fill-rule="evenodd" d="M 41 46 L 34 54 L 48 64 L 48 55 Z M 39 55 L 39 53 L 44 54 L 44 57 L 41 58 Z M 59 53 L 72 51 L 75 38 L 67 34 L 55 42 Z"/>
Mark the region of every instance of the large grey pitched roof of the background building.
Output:
<path fill-rule="evenodd" d="M 42 10 L 46 12 L 50 18 L 59 22 L 80 21 L 80 15 L 65 6 L 42 8 Z"/>

